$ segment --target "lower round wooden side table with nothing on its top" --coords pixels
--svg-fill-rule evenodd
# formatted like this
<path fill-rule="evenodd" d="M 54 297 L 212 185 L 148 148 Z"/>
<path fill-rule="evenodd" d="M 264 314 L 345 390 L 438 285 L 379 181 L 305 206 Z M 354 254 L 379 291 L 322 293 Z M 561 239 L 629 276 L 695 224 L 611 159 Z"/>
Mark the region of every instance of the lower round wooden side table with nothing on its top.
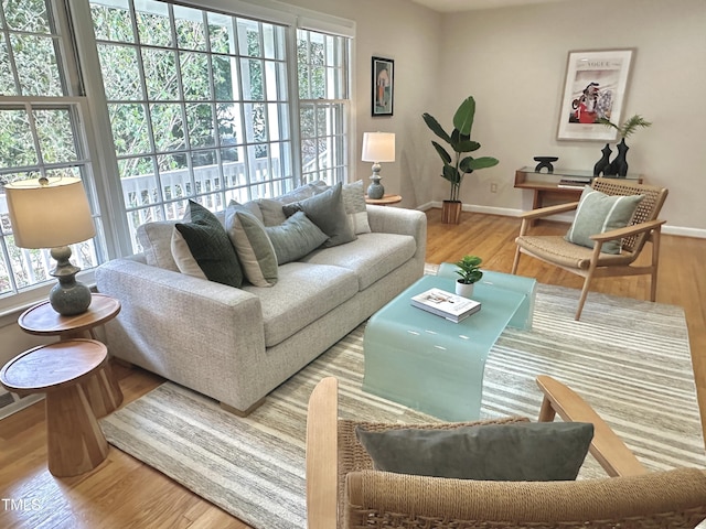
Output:
<path fill-rule="evenodd" d="M 92 471 L 108 455 L 108 442 L 82 387 L 107 363 L 104 344 L 77 338 L 34 347 L 0 371 L 0 382 L 8 391 L 46 393 L 47 464 L 55 476 Z"/>

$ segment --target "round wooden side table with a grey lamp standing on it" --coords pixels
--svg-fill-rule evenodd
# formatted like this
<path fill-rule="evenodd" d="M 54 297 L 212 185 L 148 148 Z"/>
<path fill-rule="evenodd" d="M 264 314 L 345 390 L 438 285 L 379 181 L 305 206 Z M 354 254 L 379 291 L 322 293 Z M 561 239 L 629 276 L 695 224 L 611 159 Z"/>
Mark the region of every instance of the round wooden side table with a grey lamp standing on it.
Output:
<path fill-rule="evenodd" d="M 18 319 L 18 324 L 29 334 L 58 336 L 60 341 L 95 339 L 94 328 L 113 320 L 119 312 L 118 300 L 106 294 L 94 293 L 88 310 L 83 314 L 63 316 L 52 309 L 49 301 L 44 301 L 24 311 Z M 97 418 L 114 412 L 122 403 L 122 391 L 108 363 L 98 369 L 95 377 L 82 384 Z"/>

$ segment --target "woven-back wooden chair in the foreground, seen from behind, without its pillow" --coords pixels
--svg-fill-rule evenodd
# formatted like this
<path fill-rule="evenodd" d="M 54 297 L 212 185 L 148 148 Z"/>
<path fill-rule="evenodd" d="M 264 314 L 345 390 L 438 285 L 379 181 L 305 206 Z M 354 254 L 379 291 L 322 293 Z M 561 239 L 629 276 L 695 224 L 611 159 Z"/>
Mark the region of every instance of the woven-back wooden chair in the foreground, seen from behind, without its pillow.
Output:
<path fill-rule="evenodd" d="M 339 419 L 338 380 L 330 377 L 309 400 L 308 528 L 694 528 L 706 519 L 706 472 L 648 473 L 577 393 L 550 377 L 538 377 L 537 384 L 545 395 L 541 420 L 550 421 L 556 412 L 565 421 L 592 422 L 590 452 L 617 477 L 486 482 L 375 471 L 355 428 L 420 425 Z"/>

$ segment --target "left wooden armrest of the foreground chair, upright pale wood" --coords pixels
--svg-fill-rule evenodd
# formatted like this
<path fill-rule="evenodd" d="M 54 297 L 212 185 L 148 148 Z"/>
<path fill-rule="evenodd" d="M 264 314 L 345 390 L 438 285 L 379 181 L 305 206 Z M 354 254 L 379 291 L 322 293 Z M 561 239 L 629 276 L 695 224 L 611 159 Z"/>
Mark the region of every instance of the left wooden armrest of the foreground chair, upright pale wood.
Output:
<path fill-rule="evenodd" d="M 332 529 L 338 512 L 339 381 L 327 377 L 311 392 L 307 419 L 307 527 Z"/>

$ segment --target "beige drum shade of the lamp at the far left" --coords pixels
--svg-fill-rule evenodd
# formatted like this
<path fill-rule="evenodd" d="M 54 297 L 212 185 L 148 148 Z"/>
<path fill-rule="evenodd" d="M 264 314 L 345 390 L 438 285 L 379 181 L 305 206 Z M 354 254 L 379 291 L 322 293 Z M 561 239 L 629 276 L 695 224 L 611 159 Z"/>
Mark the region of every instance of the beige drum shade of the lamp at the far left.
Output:
<path fill-rule="evenodd" d="M 21 180 L 7 184 L 4 192 L 20 248 L 55 248 L 96 235 L 79 179 Z"/>

